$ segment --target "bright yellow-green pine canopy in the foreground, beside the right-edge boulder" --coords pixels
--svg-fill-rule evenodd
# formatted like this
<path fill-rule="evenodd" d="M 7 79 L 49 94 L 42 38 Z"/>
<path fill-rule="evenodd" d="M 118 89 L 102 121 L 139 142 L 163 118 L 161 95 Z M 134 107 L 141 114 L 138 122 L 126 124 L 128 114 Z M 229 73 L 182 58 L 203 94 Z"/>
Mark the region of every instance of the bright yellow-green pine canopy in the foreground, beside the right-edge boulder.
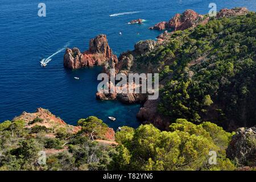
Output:
<path fill-rule="evenodd" d="M 125 128 L 119 141 L 113 168 L 119 170 L 233 170 L 225 150 L 232 134 L 209 122 L 195 125 L 177 119 L 170 131 L 152 125 Z M 209 151 L 217 152 L 217 164 L 208 163 Z"/>

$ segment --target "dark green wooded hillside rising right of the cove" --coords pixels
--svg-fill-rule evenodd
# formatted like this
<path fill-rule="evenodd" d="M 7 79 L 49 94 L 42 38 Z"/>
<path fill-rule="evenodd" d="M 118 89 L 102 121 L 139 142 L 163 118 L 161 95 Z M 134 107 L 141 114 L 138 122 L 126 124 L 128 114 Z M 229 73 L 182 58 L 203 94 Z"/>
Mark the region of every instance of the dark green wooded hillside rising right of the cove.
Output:
<path fill-rule="evenodd" d="M 162 65 L 159 111 L 172 122 L 211 121 L 225 129 L 255 125 L 255 13 L 176 31 L 144 59 Z"/>

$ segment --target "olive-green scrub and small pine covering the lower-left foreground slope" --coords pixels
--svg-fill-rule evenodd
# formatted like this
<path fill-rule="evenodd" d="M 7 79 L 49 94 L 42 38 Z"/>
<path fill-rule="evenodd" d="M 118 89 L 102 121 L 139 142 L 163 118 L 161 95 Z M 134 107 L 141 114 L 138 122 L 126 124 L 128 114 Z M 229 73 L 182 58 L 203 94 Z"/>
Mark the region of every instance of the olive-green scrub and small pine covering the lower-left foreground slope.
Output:
<path fill-rule="evenodd" d="M 43 119 L 34 119 L 43 122 Z M 91 121 L 91 122 L 90 122 Z M 82 130 L 68 133 L 68 127 L 31 126 L 34 121 L 0 123 L 0 170 L 106 170 L 114 148 L 93 142 L 88 131 L 99 131 L 96 117 L 81 119 Z M 89 124 L 90 123 L 90 124 Z M 105 127 L 104 123 L 102 124 Z M 93 127 L 92 127 L 93 126 Z M 101 137 L 95 134 L 95 137 Z M 46 164 L 39 164 L 40 152 Z"/>

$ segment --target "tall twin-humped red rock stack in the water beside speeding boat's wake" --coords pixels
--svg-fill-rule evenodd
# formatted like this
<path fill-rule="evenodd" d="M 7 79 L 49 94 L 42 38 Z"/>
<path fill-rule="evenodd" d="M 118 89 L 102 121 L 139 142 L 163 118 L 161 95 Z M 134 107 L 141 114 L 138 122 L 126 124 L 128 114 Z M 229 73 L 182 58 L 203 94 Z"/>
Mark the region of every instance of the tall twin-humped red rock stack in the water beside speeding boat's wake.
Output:
<path fill-rule="evenodd" d="M 90 40 L 88 51 L 81 53 L 76 47 L 67 48 L 63 63 L 65 68 L 78 69 L 102 65 L 110 59 L 118 61 L 117 56 L 113 55 L 112 49 L 109 47 L 106 35 L 98 35 Z"/>

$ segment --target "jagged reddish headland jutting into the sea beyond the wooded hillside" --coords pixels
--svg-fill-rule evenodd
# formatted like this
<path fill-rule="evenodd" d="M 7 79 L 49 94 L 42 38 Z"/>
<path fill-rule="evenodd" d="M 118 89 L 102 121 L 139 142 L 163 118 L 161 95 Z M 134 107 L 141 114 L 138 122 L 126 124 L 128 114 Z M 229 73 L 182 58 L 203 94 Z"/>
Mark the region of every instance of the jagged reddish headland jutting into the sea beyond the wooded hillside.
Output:
<path fill-rule="evenodd" d="M 185 30 L 190 27 L 195 27 L 199 24 L 207 23 L 209 18 L 204 15 L 197 14 L 193 10 L 186 10 L 183 14 L 176 14 L 174 18 L 170 19 L 169 22 L 160 22 L 155 24 L 154 27 L 150 27 L 151 30 L 166 30 L 174 29 Z"/>

